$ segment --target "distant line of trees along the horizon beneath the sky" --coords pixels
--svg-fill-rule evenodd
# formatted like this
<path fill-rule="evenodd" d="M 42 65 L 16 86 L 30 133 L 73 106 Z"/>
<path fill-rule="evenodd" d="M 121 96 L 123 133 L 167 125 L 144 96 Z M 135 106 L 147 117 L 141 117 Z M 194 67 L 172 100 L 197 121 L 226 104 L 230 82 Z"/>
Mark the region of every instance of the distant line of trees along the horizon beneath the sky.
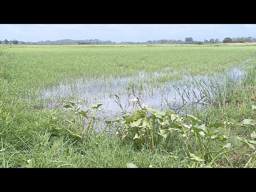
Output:
<path fill-rule="evenodd" d="M 181 39 L 159 39 L 159 40 L 149 40 L 146 42 L 111 42 L 110 40 L 101 41 L 100 39 L 85 39 L 85 40 L 73 40 L 73 39 L 60 39 L 56 41 L 38 41 L 38 42 L 23 42 L 17 41 L 15 39 L 8 41 L 5 39 L 4 41 L 0 41 L 0 44 L 28 44 L 28 45 L 74 45 L 74 44 L 210 44 L 210 43 L 245 43 L 245 42 L 256 42 L 256 38 L 254 37 L 236 37 L 230 38 L 226 37 L 223 41 L 220 39 L 211 38 L 211 39 L 204 39 L 204 41 L 194 41 L 192 37 L 186 37 L 185 40 Z"/>

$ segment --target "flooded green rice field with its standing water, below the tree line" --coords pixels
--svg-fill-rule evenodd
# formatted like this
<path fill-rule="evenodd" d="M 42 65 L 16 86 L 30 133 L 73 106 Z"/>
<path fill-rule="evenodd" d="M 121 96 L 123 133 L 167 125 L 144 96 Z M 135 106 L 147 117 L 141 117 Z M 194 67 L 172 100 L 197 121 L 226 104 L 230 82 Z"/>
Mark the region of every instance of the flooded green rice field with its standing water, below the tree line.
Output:
<path fill-rule="evenodd" d="M 1 45 L 0 167 L 256 167 L 255 67 L 253 43 Z"/>

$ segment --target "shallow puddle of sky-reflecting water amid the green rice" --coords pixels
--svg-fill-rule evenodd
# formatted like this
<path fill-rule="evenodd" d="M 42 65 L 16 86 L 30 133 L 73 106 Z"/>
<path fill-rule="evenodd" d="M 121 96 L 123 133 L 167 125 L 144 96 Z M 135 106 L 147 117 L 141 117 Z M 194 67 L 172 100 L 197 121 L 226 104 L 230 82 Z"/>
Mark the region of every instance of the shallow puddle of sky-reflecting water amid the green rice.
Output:
<path fill-rule="evenodd" d="M 169 72 L 166 69 L 166 73 Z M 172 71 L 172 73 L 174 72 Z M 71 84 L 62 83 L 59 86 L 45 89 L 40 95 L 41 99 L 46 100 L 45 107 L 47 108 L 63 106 L 68 101 L 72 101 L 81 102 L 82 105 L 79 107 L 86 110 L 92 105 L 103 103 L 97 114 L 101 119 L 104 119 L 105 116 L 108 116 L 109 119 L 111 116 L 133 111 L 131 99 L 134 97 L 137 97 L 141 104 L 145 103 L 150 108 L 172 109 L 176 113 L 182 113 L 184 107 L 203 108 L 204 105 L 207 105 L 207 102 L 209 102 L 207 98 L 214 92 L 213 84 L 223 83 L 227 77 L 239 82 L 243 74 L 244 70 L 234 67 L 222 75 L 186 76 L 180 83 L 159 82 L 155 85 L 151 82 L 152 79 L 157 82 L 157 78 L 161 76 L 159 73 L 150 75 L 140 72 L 133 77 L 109 77 L 108 79 L 103 77 L 95 79 L 79 78 Z M 207 97 L 205 92 L 202 92 L 202 86 L 198 86 L 195 82 L 199 82 L 208 89 Z M 118 95 L 119 100 L 115 95 Z M 60 102 L 60 98 L 62 98 L 62 102 Z M 67 98 L 64 99 L 65 102 L 63 102 L 63 98 Z"/>

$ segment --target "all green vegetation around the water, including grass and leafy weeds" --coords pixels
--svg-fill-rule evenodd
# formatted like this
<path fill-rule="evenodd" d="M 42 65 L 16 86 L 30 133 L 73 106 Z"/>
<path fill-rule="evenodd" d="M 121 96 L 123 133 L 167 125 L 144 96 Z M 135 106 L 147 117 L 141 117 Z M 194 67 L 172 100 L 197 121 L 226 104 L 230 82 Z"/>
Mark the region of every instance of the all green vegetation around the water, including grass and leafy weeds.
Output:
<path fill-rule="evenodd" d="M 256 167 L 255 68 L 247 69 L 242 83 L 219 86 L 206 110 L 177 116 L 140 108 L 133 100 L 131 114 L 107 121 L 115 130 L 100 133 L 92 122 L 100 105 L 82 112 L 67 100 L 66 108 L 74 109 L 67 112 L 63 106 L 43 108 L 36 100 L 38 90 L 81 76 L 179 71 L 155 79 L 157 86 L 185 74 L 212 75 L 253 58 L 255 46 L 10 46 L 0 51 L 1 167 Z M 255 66 L 255 60 L 244 65 Z M 25 93 L 30 100 L 22 97 Z M 83 122 L 86 129 L 77 129 Z"/>

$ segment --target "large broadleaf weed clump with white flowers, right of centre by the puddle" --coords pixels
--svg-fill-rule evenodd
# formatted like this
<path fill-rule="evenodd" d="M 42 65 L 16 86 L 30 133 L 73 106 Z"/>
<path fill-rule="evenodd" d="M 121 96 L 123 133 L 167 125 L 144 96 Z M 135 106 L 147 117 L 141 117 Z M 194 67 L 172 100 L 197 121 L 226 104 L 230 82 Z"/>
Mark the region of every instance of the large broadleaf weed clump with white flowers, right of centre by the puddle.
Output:
<path fill-rule="evenodd" d="M 205 125 L 200 119 L 193 115 L 181 117 L 172 110 L 160 111 L 149 108 L 147 105 L 139 105 L 138 98 L 131 100 L 134 106 L 133 114 L 124 114 L 123 118 L 118 117 L 115 121 L 106 121 L 106 124 L 117 127 L 116 135 L 125 141 L 132 141 L 137 148 L 146 147 L 154 151 L 158 146 L 164 148 L 171 135 L 182 141 L 182 147 L 186 157 L 189 159 L 187 167 L 213 167 L 221 156 L 225 156 L 230 167 L 233 164 L 228 153 L 241 149 L 255 149 L 256 141 L 237 137 L 241 141 L 239 147 L 233 147 L 227 135 L 219 132 L 219 127 L 227 125 L 254 126 L 253 119 L 244 119 L 241 123 L 234 122 L 213 122 Z M 255 109 L 255 105 L 252 105 Z M 116 124 L 117 123 L 117 124 Z M 115 125 L 114 125 L 115 124 Z M 256 138 L 255 131 L 251 134 Z M 218 150 L 212 150 L 210 143 L 218 145 Z M 246 151 L 246 150 L 244 150 Z M 243 158 L 244 153 L 241 156 Z"/>

